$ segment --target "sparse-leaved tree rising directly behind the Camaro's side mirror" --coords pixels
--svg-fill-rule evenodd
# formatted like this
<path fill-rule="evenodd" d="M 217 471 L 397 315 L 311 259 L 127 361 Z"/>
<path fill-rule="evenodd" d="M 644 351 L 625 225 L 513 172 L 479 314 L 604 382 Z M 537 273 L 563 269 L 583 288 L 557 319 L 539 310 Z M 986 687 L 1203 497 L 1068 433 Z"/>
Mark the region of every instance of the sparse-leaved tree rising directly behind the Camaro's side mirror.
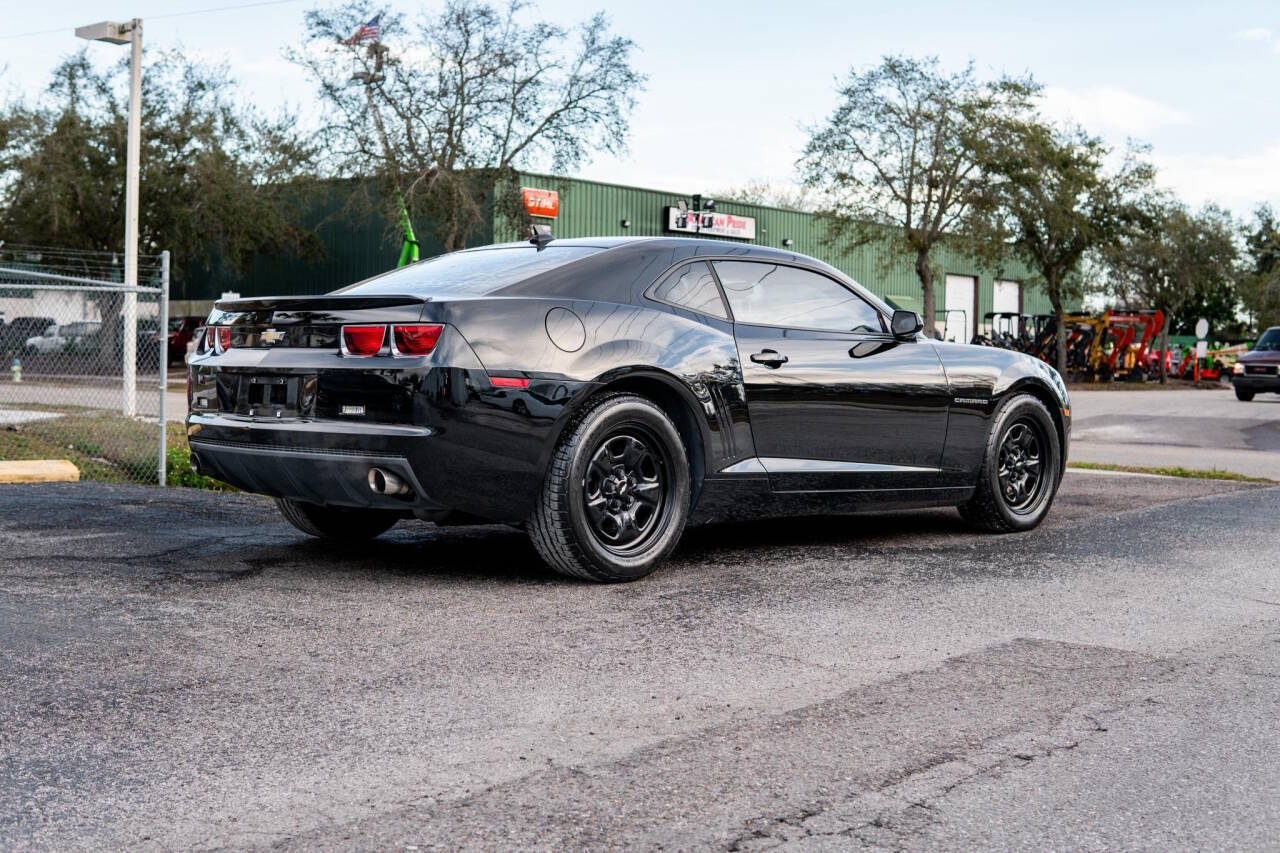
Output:
<path fill-rule="evenodd" d="M 914 260 L 929 334 L 934 247 L 959 243 L 984 259 L 1000 252 L 986 229 L 993 196 L 984 165 L 1036 92 L 1030 79 L 980 82 L 972 63 L 946 74 L 933 58 L 886 56 L 850 72 L 836 110 L 805 145 L 800 169 L 827 200 L 833 238 L 887 240 L 891 256 Z"/>

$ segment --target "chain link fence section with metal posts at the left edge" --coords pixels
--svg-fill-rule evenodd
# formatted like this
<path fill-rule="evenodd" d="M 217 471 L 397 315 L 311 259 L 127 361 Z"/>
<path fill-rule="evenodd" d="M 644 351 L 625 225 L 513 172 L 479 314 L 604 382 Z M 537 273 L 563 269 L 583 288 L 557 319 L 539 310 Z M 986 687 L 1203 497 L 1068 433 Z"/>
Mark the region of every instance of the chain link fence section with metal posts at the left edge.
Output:
<path fill-rule="evenodd" d="M 168 346 L 168 252 L 140 257 L 137 287 L 120 279 L 106 252 L 0 246 L 0 460 L 164 484 L 166 380 L 186 355 Z"/>

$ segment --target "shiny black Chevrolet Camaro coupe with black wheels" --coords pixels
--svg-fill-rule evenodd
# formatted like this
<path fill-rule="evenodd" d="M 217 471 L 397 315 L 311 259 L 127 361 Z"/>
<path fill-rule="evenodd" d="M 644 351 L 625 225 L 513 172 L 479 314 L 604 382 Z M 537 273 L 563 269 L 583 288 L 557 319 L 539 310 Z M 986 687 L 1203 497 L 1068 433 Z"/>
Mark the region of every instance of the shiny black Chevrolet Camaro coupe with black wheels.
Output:
<path fill-rule="evenodd" d="M 690 520 L 956 506 L 1027 530 L 1070 433 L 1041 361 L 927 339 L 804 255 L 675 237 L 221 301 L 188 371 L 192 464 L 300 530 L 521 524 L 591 580 L 649 574 Z"/>

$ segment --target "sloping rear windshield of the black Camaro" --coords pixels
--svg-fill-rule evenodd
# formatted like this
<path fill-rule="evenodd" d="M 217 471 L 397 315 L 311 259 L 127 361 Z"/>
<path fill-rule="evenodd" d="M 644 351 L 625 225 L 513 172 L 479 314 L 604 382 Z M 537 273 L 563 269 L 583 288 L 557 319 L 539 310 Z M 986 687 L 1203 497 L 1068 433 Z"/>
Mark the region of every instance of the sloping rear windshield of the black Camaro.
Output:
<path fill-rule="evenodd" d="M 334 293 L 408 296 L 484 296 L 539 273 L 602 251 L 594 246 L 479 248 L 438 255 L 403 269 L 344 287 Z"/>

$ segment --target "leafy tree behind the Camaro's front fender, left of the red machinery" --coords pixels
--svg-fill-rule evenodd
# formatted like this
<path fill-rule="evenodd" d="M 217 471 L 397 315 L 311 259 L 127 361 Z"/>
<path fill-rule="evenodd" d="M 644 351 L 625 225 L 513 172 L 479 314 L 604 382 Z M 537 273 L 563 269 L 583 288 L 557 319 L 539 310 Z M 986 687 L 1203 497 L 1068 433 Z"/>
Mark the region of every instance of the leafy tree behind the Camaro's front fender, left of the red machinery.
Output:
<path fill-rule="evenodd" d="M 1151 186 L 1155 170 L 1133 149 L 1107 174 L 1110 150 L 1080 127 L 1052 127 L 1032 119 L 1007 128 L 988 164 L 1000 174 L 998 228 L 1012 250 L 1039 274 L 1057 318 L 1057 370 L 1066 374 L 1064 305 L 1083 296 L 1078 274 L 1089 252 L 1108 246 Z"/>

